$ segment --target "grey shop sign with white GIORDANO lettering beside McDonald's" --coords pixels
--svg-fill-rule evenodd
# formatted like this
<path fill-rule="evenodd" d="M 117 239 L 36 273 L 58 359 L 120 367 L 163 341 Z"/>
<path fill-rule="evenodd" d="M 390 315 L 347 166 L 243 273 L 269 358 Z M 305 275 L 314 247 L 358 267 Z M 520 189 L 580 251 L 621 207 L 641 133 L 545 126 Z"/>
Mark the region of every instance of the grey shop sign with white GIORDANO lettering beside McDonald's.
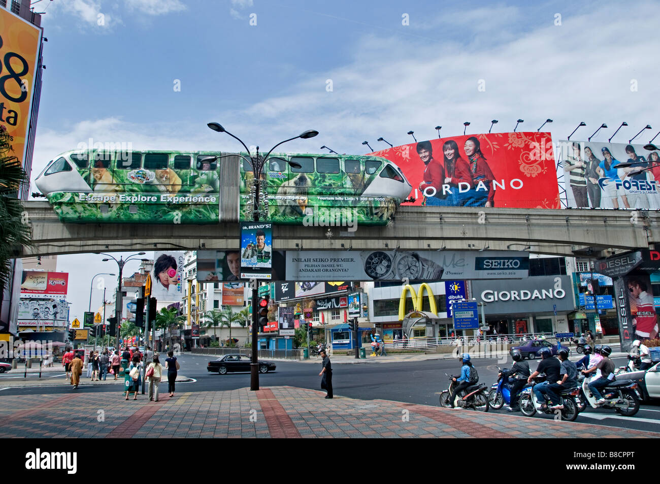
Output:
<path fill-rule="evenodd" d="M 499 286 L 499 287 L 498 287 Z M 529 277 L 517 281 L 473 281 L 473 291 L 486 312 L 548 312 L 574 310 L 570 277 Z"/>

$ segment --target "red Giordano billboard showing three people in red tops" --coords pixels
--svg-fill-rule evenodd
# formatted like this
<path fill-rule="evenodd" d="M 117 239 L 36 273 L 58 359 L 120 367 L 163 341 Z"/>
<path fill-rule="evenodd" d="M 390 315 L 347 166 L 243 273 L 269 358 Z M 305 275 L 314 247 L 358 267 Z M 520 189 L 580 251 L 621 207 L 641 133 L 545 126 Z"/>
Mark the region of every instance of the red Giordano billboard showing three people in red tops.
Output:
<path fill-rule="evenodd" d="M 413 205 L 560 208 L 550 133 L 451 136 L 372 154 L 403 170 Z"/>

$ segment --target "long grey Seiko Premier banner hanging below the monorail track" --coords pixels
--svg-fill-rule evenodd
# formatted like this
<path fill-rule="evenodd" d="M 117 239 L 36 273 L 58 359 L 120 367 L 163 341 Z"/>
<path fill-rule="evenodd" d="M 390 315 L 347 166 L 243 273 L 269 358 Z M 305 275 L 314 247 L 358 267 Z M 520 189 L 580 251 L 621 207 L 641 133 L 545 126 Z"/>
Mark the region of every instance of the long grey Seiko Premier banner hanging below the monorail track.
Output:
<path fill-rule="evenodd" d="M 440 281 L 520 279 L 529 253 L 514 251 L 286 251 L 286 280 Z"/>

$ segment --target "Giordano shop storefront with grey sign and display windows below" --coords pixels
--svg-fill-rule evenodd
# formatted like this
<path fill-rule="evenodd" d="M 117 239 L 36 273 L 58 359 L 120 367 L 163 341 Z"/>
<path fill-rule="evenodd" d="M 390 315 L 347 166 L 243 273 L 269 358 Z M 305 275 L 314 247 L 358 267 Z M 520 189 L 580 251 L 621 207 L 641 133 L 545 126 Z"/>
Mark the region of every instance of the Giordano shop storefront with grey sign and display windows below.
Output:
<path fill-rule="evenodd" d="M 569 331 L 568 315 L 575 310 L 569 276 L 473 281 L 472 289 L 477 301 L 486 304 L 489 335 Z"/>

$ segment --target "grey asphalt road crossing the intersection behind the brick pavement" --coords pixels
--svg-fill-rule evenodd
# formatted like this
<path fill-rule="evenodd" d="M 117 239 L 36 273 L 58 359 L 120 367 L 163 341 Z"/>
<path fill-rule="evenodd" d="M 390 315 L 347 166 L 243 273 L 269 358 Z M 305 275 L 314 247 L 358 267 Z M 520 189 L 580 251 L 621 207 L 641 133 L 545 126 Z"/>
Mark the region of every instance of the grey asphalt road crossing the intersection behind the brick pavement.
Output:
<path fill-rule="evenodd" d="M 179 357 L 181 364 L 180 374 L 193 378 L 194 382 L 178 383 L 179 392 L 204 392 L 210 390 L 233 390 L 249 387 L 249 373 L 228 373 L 219 375 L 210 373 L 206 364 L 215 357 L 183 355 Z M 616 366 L 623 366 L 627 359 L 614 359 Z M 297 386 L 320 390 L 318 374 L 321 371 L 320 360 L 317 364 L 298 363 L 294 361 L 275 361 L 277 370 L 272 373 L 259 375 L 261 386 Z M 497 366 L 510 367 L 511 361 L 502 364 L 494 359 L 479 359 L 476 361 L 479 368 L 480 382 L 490 384 L 496 381 Z M 530 361 L 530 369 L 535 370 L 539 360 Z M 438 405 L 438 395 L 448 386 L 447 374 L 460 372 L 460 364 L 455 360 L 428 360 L 406 363 L 335 363 L 333 364 L 333 387 L 335 395 L 360 399 L 387 399 L 405 401 L 408 403 L 421 403 L 425 405 Z M 12 376 L 11 372 L 0 376 L 0 388 L 4 378 Z M 16 375 L 13 375 L 16 376 Z M 21 374 L 22 376 L 22 374 Z M 62 377 L 63 378 L 63 377 Z M 112 385 L 91 386 L 82 379 L 80 390 L 82 392 L 107 392 L 108 398 L 116 396 L 117 387 Z M 0 390 L 0 395 L 25 394 L 64 394 L 71 392 L 69 387 L 32 387 L 8 388 Z M 468 410 L 466 410 L 468 411 Z M 494 413 L 506 413 L 504 409 L 490 410 Z M 510 414 L 511 415 L 511 414 Z M 552 419 L 552 415 L 535 415 L 520 418 Z M 660 400 L 650 404 L 645 403 L 634 417 L 622 417 L 613 410 L 587 408 L 579 414 L 578 422 L 595 425 L 612 425 L 626 429 L 638 429 L 660 432 Z"/>

